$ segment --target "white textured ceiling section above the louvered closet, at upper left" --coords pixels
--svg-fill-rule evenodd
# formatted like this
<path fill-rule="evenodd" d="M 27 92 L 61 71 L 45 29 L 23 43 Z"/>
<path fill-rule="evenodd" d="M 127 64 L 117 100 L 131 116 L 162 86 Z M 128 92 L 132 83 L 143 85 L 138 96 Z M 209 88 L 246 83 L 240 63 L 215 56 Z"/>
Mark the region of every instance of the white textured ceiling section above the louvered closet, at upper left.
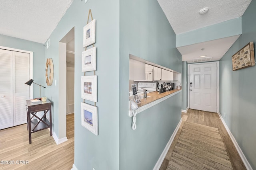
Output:
<path fill-rule="evenodd" d="M 45 43 L 73 0 L 0 0 L 0 34 Z"/>

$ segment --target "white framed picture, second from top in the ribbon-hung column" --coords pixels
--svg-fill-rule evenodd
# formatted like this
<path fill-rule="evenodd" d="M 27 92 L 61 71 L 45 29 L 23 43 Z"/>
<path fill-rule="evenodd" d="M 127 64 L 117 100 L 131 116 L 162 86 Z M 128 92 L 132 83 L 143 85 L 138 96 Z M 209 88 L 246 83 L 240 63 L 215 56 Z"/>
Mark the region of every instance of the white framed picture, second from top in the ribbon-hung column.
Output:
<path fill-rule="evenodd" d="M 96 70 L 96 47 L 82 52 L 82 72 Z"/>

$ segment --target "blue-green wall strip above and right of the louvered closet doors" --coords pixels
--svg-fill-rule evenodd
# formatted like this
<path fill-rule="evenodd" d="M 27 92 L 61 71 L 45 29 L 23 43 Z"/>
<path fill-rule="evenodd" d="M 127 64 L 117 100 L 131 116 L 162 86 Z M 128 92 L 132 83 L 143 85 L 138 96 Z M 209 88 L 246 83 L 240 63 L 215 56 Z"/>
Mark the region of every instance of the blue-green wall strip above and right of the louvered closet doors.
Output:
<path fill-rule="evenodd" d="M 45 62 L 44 45 L 24 39 L 14 38 L 6 35 L 0 35 L 0 46 L 20 49 L 33 52 L 33 80 L 37 84 L 46 85 L 45 82 Z M 24 82 L 25 83 L 25 82 Z M 44 88 L 41 89 L 41 95 L 44 96 Z M 39 86 L 34 85 L 32 98 L 39 98 Z"/>

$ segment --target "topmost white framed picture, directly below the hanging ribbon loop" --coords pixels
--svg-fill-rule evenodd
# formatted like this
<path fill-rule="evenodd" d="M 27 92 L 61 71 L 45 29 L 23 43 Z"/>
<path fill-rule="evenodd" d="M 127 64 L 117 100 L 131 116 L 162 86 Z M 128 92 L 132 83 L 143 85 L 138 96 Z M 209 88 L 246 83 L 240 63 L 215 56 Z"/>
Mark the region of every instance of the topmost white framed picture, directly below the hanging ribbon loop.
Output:
<path fill-rule="evenodd" d="M 96 37 L 96 20 L 90 21 L 84 26 L 84 47 L 95 43 Z"/>

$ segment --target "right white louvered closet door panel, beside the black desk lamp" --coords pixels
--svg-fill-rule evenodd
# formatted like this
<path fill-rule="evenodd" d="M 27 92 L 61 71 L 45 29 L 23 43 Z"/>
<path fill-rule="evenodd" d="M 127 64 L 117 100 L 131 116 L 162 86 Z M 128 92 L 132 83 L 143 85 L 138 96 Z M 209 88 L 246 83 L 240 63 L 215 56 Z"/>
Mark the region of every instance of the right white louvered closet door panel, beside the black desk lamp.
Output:
<path fill-rule="evenodd" d="M 28 53 L 20 53 L 14 51 L 14 126 L 20 125 L 27 122 L 26 116 L 26 100 L 29 100 L 29 88 L 30 86 L 26 85 L 30 79 L 29 75 L 29 65 L 30 65 L 30 56 Z"/>

